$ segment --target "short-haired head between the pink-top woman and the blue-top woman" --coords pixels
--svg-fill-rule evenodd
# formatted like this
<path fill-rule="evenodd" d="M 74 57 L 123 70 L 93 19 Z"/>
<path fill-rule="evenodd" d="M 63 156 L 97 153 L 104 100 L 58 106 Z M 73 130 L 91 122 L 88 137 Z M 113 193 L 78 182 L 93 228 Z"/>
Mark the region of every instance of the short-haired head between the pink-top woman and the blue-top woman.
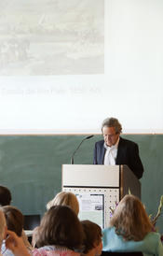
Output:
<path fill-rule="evenodd" d="M 91 255 L 101 255 L 102 254 L 102 229 L 101 227 L 90 221 L 81 221 L 85 239 L 84 239 L 84 253 Z"/>

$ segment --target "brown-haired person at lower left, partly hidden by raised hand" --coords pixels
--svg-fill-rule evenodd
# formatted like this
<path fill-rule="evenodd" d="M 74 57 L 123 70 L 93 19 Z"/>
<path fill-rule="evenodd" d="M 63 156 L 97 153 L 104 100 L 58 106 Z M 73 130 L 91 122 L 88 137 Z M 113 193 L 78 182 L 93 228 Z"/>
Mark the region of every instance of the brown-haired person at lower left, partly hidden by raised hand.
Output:
<path fill-rule="evenodd" d="M 23 232 L 23 215 L 20 210 L 15 206 L 3 206 L 1 207 L 1 210 L 4 212 L 6 217 L 7 229 L 14 231 L 18 236 L 23 237 L 23 240 L 25 241 L 25 246 L 27 247 L 27 249 L 31 250 L 32 247 L 27 240 L 27 236 L 24 235 Z M 5 243 L 3 243 L 2 245 L 1 252 L 3 252 L 3 255 L 6 256 L 13 255 L 13 253 L 9 249 L 6 249 Z"/>

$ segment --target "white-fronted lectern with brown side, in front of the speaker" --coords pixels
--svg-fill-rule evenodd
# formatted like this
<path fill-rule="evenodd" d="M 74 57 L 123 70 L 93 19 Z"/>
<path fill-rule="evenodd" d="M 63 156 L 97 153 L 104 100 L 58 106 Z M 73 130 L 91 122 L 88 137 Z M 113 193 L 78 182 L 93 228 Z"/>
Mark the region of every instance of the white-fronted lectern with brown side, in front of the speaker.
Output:
<path fill-rule="evenodd" d="M 108 226 L 112 210 L 129 192 L 141 199 L 141 183 L 127 165 L 63 164 L 62 191 L 78 198 L 80 220 Z"/>

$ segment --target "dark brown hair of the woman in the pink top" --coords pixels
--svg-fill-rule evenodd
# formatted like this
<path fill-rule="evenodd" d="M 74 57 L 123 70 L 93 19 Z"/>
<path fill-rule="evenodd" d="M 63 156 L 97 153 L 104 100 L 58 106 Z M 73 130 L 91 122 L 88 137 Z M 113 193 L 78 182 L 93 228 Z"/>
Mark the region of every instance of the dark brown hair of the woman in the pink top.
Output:
<path fill-rule="evenodd" d="M 69 206 L 52 206 L 38 227 L 36 246 L 57 245 L 81 249 L 84 232 L 82 225 Z"/>

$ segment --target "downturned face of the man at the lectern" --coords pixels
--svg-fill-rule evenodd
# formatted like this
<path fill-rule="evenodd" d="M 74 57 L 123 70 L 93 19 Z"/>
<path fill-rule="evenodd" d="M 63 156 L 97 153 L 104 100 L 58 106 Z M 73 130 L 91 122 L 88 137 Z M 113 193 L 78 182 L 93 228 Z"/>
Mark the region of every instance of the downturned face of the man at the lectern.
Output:
<path fill-rule="evenodd" d="M 115 145 L 119 137 L 119 134 L 115 133 L 115 127 L 107 127 L 107 126 L 104 126 L 102 128 L 102 135 L 103 135 L 105 144 L 109 147 Z"/>

